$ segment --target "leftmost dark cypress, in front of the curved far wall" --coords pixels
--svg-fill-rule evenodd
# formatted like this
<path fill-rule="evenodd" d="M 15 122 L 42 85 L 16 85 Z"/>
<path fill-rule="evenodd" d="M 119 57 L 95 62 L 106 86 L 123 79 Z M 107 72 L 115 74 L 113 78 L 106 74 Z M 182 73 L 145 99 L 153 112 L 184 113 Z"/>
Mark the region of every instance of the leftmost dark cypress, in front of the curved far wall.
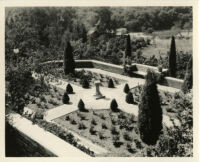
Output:
<path fill-rule="evenodd" d="M 72 54 L 72 46 L 70 42 L 67 42 L 67 46 L 65 47 L 64 50 L 64 73 L 65 75 L 68 74 L 74 74 L 74 69 L 75 69 L 75 62 Z"/>

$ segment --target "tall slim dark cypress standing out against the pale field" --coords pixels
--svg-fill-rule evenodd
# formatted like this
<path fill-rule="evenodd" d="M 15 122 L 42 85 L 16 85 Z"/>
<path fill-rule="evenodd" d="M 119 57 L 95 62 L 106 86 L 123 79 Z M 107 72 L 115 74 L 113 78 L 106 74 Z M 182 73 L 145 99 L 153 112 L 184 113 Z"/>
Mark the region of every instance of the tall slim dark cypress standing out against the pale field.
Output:
<path fill-rule="evenodd" d="M 174 36 L 172 36 L 169 53 L 169 75 L 171 77 L 176 77 L 176 44 Z"/>

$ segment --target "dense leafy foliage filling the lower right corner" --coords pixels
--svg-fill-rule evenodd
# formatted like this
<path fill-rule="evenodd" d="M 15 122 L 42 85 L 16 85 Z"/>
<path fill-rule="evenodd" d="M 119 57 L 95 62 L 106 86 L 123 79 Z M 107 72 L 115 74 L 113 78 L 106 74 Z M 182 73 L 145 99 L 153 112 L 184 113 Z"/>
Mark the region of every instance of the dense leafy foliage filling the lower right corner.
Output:
<path fill-rule="evenodd" d="M 145 156 L 192 157 L 193 156 L 193 106 L 192 93 L 177 93 L 169 105 L 178 110 L 180 126 L 165 128 L 155 146 L 148 147 Z"/>

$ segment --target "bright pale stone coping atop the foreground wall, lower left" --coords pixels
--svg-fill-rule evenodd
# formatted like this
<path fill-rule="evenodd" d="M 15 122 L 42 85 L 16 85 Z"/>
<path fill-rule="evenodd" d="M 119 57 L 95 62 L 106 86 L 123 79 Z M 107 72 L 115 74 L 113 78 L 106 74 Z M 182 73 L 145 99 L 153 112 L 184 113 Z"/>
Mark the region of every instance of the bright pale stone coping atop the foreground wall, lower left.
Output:
<path fill-rule="evenodd" d="M 17 113 L 7 115 L 9 123 L 39 145 L 58 157 L 90 157 L 61 138 L 45 131 Z M 37 151 L 37 150 L 36 150 Z"/>

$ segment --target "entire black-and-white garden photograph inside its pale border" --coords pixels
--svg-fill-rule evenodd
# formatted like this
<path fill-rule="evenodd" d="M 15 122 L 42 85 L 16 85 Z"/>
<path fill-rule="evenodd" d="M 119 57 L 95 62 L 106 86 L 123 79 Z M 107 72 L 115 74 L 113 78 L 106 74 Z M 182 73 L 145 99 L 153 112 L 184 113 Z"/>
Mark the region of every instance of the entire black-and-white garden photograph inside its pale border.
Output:
<path fill-rule="evenodd" d="M 5 157 L 193 157 L 193 11 L 5 7 Z"/>

